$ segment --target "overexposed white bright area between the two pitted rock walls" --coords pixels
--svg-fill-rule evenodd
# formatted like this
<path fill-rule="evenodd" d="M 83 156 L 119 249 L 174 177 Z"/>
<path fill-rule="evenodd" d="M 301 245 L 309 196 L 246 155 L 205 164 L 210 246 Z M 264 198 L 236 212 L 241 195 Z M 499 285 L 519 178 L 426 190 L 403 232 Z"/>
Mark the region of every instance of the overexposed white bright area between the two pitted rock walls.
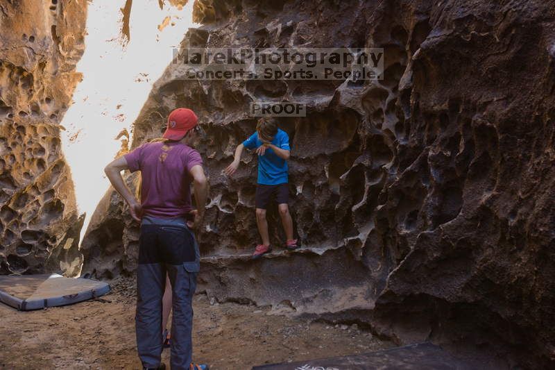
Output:
<path fill-rule="evenodd" d="M 179 45 L 188 28 L 198 26 L 192 22 L 194 1 L 182 10 L 166 2 L 161 10 L 156 0 L 133 1 L 126 47 L 120 42 L 120 8 L 125 0 L 89 2 L 85 54 L 77 65 L 83 81 L 62 121 L 67 129 L 62 135 L 63 150 L 78 209 L 87 212 L 81 237 L 108 190 L 103 169 L 121 146 L 114 138 L 123 128 L 130 131 L 153 83 L 171 62 L 171 48 Z M 158 25 L 167 17 L 171 17 L 169 24 L 160 31 Z"/>

